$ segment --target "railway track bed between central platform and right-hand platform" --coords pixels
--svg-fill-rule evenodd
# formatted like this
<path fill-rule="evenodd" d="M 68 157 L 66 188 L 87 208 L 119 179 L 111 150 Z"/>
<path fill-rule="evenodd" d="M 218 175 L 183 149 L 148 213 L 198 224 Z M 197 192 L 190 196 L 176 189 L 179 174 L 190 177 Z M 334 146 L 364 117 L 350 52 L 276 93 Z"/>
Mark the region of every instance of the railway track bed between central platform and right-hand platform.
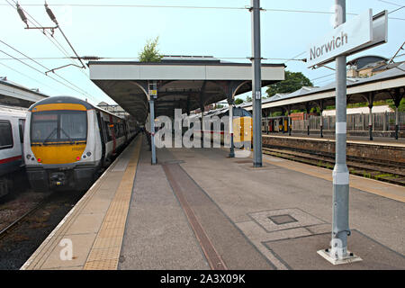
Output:
<path fill-rule="evenodd" d="M 263 153 L 329 169 L 333 169 L 335 166 L 335 156 L 327 153 L 273 148 L 267 145 L 263 146 Z M 405 170 L 397 163 L 347 157 L 347 167 L 350 174 L 353 175 L 405 186 Z"/>

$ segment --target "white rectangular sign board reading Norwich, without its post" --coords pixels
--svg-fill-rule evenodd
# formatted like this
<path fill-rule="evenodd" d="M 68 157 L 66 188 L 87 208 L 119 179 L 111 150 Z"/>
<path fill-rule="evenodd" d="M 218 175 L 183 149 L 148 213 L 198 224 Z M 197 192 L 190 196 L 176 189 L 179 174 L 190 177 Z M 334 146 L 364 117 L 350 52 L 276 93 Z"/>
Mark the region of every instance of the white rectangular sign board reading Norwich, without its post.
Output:
<path fill-rule="evenodd" d="M 373 17 L 372 9 L 356 16 L 314 41 L 307 49 L 308 67 L 334 61 L 339 55 L 351 55 L 387 41 L 387 12 Z"/>

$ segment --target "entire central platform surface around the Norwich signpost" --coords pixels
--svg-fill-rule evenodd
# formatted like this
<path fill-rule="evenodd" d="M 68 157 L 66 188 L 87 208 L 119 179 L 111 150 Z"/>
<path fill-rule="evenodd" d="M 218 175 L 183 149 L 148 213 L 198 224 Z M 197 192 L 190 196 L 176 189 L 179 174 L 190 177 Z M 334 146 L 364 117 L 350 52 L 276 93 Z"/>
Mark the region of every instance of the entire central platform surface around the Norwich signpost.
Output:
<path fill-rule="evenodd" d="M 405 188 L 350 175 L 348 248 L 333 266 L 332 173 L 222 148 L 157 149 L 138 136 L 22 269 L 405 269 Z"/>

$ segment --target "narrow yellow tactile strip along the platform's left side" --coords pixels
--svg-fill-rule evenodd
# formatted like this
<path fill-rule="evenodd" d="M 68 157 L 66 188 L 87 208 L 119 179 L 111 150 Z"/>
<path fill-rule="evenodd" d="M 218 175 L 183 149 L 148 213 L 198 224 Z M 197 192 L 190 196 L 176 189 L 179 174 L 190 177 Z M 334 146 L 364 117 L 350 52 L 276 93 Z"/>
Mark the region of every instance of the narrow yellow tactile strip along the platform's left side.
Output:
<path fill-rule="evenodd" d="M 121 184 L 112 199 L 93 247 L 85 261 L 84 270 L 116 270 L 118 267 L 141 143 L 142 136 L 140 135 L 135 151 L 122 176 Z"/>

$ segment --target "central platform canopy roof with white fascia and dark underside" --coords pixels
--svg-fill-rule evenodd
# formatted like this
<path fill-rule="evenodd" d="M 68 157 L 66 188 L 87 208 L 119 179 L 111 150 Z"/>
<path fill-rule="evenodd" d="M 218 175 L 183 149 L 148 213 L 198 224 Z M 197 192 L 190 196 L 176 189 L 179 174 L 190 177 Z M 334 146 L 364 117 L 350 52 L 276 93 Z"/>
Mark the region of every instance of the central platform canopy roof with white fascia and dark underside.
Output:
<path fill-rule="evenodd" d="M 144 123 L 148 81 L 157 81 L 156 117 L 175 108 L 193 111 L 252 90 L 252 65 L 220 59 L 163 58 L 161 62 L 90 61 L 90 79 L 125 111 Z M 262 64 L 262 85 L 284 80 L 284 64 Z"/>

